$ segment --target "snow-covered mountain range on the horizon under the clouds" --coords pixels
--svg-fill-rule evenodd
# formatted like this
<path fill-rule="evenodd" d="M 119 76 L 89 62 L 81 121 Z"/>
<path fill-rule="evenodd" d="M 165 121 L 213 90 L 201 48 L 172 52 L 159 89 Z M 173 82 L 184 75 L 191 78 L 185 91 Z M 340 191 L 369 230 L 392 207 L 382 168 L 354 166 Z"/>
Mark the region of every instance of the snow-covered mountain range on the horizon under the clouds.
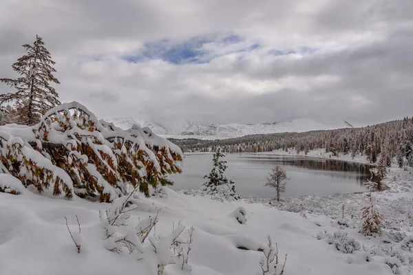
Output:
<path fill-rule="evenodd" d="M 202 140 L 242 137 L 263 133 L 305 132 L 313 130 L 332 129 L 310 118 L 297 118 L 287 122 L 269 122 L 262 124 L 202 124 L 200 122 L 179 122 L 174 124 L 160 124 L 151 120 L 137 120 L 135 118 L 106 119 L 122 129 L 128 129 L 133 124 L 148 126 L 153 133 L 173 138 L 200 138 Z M 341 125 L 342 128 L 348 126 Z"/>

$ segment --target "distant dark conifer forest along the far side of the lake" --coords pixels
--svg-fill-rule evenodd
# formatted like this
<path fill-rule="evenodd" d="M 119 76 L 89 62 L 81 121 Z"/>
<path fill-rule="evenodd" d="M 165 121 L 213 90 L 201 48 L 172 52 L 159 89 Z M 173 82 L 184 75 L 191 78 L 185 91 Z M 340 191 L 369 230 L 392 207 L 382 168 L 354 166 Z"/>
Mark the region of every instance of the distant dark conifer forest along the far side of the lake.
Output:
<path fill-rule="evenodd" d="M 361 128 L 246 135 L 227 140 L 171 139 L 184 152 L 214 152 L 218 146 L 225 153 L 259 153 L 294 149 L 297 153 L 324 148 L 333 156 L 366 155 L 376 163 L 379 155 L 390 165 L 396 157 L 400 167 L 413 166 L 413 118 L 394 120 Z"/>

